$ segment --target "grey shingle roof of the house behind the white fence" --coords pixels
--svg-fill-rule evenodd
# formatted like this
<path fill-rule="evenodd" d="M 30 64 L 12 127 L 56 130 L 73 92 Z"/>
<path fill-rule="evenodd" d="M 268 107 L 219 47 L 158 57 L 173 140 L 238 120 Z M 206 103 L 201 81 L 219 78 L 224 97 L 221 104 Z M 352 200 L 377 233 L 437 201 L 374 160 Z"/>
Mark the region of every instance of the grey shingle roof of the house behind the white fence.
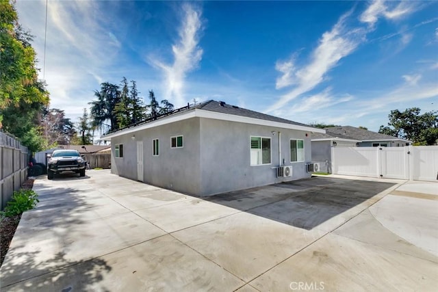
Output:
<path fill-rule="evenodd" d="M 343 127 L 329 127 L 325 128 L 326 135 L 331 137 L 338 137 L 344 139 L 361 140 L 361 141 L 375 141 L 375 140 L 402 140 L 398 137 L 376 133 L 365 129 L 359 129 L 351 126 Z M 312 135 L 313 137 L 313 135 Z M 407 141 L 407 140 L 402 140 Z"/>

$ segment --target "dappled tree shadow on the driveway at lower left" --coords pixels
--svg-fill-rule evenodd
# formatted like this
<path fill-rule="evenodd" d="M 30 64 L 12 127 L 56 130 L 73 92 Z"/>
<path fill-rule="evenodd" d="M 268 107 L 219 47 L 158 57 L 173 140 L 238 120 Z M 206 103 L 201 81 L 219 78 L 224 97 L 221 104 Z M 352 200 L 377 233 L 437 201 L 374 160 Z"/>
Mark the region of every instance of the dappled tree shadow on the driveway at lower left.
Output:
<path fill-rule="evenodd" d="M 86 291 L 88 285 L 102 280 L 103 273 L 110 271 L 111 267 L 99 258 L 73 261 L 65 258 L 66 254 L 62 251 L 52 254 L 51 247 L 57 248 L 64 244 L 64 241 L 69 240 L 70 232 L 89 224 L 90 221 L 84 218 L 83 214 L 90 213 L 96 206 L 86 197 L 86 191 L 44 187 L 38 183 L 40 182 L 36 181 L 34 184 L 34 190 L 38 192 L 40 202 L 36 209 L 23 213 L 11 248 L 1 266 L 1 291 L 8 290 L 10 284 L 34 277 L 34 280 L 26 283 L 31 285 L 26 286 L 28 291 L 47 288 L 48 284 L 59 287 L 57 283 L 69 281 L 72 286 L 65 287 L 62 291 Z M 77 265 L 80 265 L 80 269 L 75 268 Z M 60 269 L 61 267 L 66 268 Z M 67 270 L 72 268 L 76 269 L 76 276 L 69 279 L 72 273 Z M 48 273 L 52 273 L 50 283 L 47 282 L 47 278 L 40 277 Z"/>

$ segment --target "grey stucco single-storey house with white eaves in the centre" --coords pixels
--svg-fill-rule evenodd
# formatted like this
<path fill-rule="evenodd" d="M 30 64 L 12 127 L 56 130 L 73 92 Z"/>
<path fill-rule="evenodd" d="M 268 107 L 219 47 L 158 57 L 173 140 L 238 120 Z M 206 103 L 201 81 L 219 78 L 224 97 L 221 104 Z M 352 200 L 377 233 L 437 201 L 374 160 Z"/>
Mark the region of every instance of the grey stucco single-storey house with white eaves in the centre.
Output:
<path fill-rule="evenodd" d="M 310 177 L 312 132 L 324 130 L 207 101 L 101 139 L 111 140 L 113 174 L 208 196 Z"/>

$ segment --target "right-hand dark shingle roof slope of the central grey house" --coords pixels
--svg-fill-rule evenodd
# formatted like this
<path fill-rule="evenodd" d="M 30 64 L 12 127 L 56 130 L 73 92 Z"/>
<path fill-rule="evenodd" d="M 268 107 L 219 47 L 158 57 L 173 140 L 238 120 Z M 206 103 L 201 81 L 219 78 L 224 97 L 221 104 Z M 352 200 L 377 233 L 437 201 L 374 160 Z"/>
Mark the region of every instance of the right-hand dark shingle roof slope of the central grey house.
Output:
<path fill-rule="evenodd" d="M 283 122 L 285 124 L 296 124 L 298 126 L 309 127 L 308 124 L 302 124 L 300 122 L 294 122 L 292 120 L 286 120 L 284 118 L 277 118 L 276 116 L 270 116 L 267 114 L 262 114 L 258 111 L 251 111 L 250 109 L 244 109 L 242 107 L 237 107 L 235 105 L 227 105 L 222 101 L 206 101 L 205 103 L 201 103 L 197 105 L 196 108 L 204 109 L 206 111 L 216 111 L 222 114 L 231 114 L 235 116 L 244 116 L 247 118 L 257 118 L 259 120 L 269 120 L 271 122 Z"/>

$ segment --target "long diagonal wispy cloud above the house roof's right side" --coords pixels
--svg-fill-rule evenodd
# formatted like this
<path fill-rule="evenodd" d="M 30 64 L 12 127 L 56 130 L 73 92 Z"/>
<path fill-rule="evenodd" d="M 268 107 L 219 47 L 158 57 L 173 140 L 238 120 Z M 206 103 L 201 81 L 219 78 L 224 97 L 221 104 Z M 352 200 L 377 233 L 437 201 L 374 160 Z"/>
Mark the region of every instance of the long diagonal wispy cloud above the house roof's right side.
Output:
<path fill-rule="evenodd" d="M 277 62 L 276 70 L 283 73 L 276 79 L 276 88 L 294 85 L 287 94 L 268 108 L 268 112 L 279 109 L 289 101 L 315 88 L 324 81 L 326 73 L 334 68 L 340 59 L 354 51 L 364 32 L 361 29 L 347 29 L 346 20 L 351 11 L 339 18 L 331 31 L 326 31 L 320 38 L 318 47 L 311 53 L 308 64 L 300 68 L 294 66 L 294 57 L 285 62 Z"/>

